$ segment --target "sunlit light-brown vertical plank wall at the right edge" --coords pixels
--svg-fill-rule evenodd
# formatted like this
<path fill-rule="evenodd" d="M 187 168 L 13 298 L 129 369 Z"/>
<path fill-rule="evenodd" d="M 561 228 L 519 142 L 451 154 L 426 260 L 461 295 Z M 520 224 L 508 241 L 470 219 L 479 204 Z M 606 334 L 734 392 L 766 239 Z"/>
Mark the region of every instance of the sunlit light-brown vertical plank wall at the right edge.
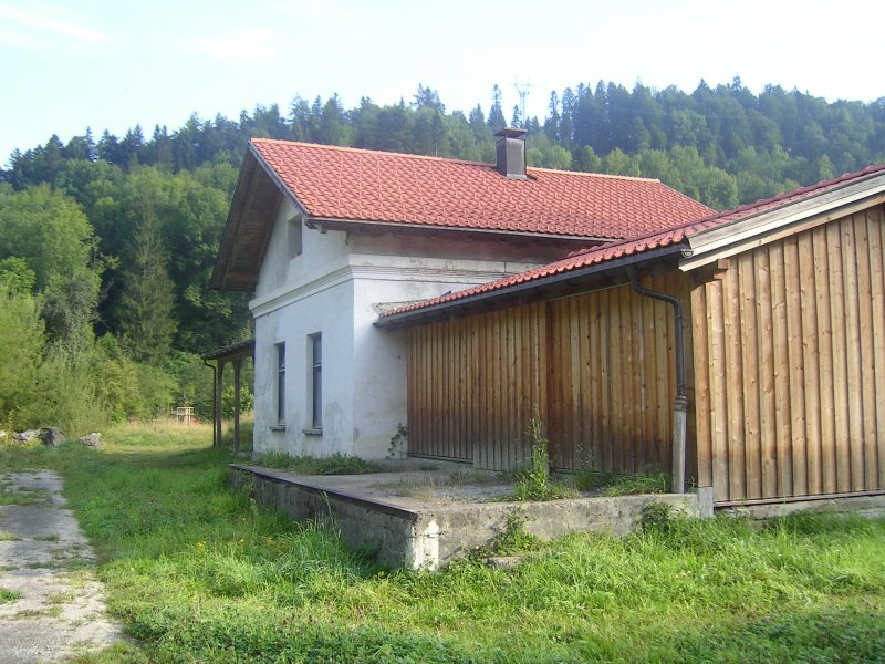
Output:
<path fill-rule="evenodd" d="M 698 479 L 719 502 L 885 489 L 885 214 L 730 258 L 691 292 Z"/>

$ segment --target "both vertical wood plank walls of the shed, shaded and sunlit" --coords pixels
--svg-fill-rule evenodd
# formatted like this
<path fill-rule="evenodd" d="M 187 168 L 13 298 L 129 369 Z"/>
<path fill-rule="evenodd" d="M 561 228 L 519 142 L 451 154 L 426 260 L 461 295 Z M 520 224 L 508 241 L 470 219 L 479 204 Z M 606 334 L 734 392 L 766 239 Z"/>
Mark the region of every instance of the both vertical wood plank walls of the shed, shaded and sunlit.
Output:
<path fill-rule="evenodd" d="M 885 489 L 884 224 L 836 219 L 694 286 L 644 277 L 690 300 L 689 474 L 717 501 Z M 668 470 L 673 336 L 626 286 L 412 329 L 409 449 L 513 468 L 537 404 L 558 467 Z"/>

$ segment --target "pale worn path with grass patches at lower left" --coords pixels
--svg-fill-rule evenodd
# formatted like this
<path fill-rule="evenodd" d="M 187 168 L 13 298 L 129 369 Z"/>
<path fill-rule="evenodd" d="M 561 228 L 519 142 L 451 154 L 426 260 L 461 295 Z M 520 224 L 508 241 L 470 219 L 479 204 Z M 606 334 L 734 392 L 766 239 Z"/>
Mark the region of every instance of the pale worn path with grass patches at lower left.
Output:
<path fill-rule="evenodd" d="M 0 663 L 59 661 L 121 637 L 61 489 L 51 470 L 0 473 Z"/>

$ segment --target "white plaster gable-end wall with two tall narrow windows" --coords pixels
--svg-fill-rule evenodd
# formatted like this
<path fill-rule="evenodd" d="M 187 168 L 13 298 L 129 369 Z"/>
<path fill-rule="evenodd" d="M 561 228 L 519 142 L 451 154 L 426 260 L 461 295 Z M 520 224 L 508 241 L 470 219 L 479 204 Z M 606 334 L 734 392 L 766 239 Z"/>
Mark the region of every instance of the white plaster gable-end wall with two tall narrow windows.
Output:
<path fill-rule="evenodd" d="M 250 309 L 256 320 L 256 452 L 353 454 L 353 282 L 346 236 L 301 231 L 292 255 L 291 204 L 282 206 Z M 323 428 L 312 428 L 309 335 L 323 336 Z M 285 422 L 277 418 L 277 344 L 285 343 Z"/>

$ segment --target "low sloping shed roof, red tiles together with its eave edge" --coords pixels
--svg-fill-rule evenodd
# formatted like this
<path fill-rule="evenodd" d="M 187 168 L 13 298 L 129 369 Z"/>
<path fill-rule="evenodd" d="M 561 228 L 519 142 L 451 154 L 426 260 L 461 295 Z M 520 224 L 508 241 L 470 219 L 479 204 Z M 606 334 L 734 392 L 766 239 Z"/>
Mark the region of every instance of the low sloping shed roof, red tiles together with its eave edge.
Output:
<path fill-rule="evenodd" d="M 737 225 L 741 221 L 748 221 L 769 212 L 784 218 L 787 212 L 798 206 L 798 204 L 816 199 L 831 193 L 847 193 L 850 187 L 854 187 L 852 189 L 852 195 L 856 197 L 855 190 L 863 193 L 868 188 L 863 184 L 874 178 L 877 184 L 877 189 L 885 188 L 883 184 L 883 181 L 885 181 L 885 164 L 871 166 L 863 170 L 850 173 L 835 179 L 820 181 L 808 187 L 801 187 L 794 191 L 759 200 L 751 205 L 743 205 L 718 215 L 678 224 L 662 231 L 639 235 L 629 239 L 617 240 L 591 249 L 575 251 L 562 260 L 533 270 L 512 274 L 497 281 L 387 312 L 379 318 L 378 324 L 388 325 L 420 322 L 427 320 L 427 314 L 431 311 L 441 312 L 445 310 L 447 314 L 450 314 L 455 309 L 466 307 L 477 299 L 489 298 L 491 295 L 506 298 L 509 291 L 512 290 L 519 289 L 524 291 L 532 288 L 543 288 L 544 284 L 551 280 L 576 278 L 579 273 L 589 270 L 598 273 L 605 270 L 621 269 L 627 262 L 641 262 L 646 257 L 652 258 L 663 255 L 681 255 L 687 257 L 690 256 L 693 251 L 691 240 L 705 232 L 728 227 L 732 224 Z M 841 200 L 843 199 L 837 196 L 834 198 L 835 204 L 839 204 Z"/>

